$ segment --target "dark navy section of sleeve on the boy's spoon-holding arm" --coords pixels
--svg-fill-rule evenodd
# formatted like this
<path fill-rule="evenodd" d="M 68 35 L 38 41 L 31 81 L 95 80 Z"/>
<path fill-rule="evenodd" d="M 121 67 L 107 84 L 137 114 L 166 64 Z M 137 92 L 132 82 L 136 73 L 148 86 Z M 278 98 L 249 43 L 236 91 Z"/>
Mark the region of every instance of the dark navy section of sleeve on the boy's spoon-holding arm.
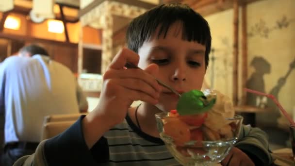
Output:
<path fill-rule="evenodd" d="M 96 166 L 109 160 L 108 142 L 104 137 L 88 149 L 82 133 L 84 117 L 45 142 L 44 153 L 49 166 Z"/>

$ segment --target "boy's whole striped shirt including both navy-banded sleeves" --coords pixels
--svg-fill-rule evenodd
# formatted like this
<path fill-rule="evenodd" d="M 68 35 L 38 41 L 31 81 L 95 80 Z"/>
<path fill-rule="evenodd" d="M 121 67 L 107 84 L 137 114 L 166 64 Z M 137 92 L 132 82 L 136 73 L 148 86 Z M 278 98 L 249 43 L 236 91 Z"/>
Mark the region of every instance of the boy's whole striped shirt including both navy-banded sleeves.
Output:
<path fill-rule="evenodd" d="M 129 117 L 89 150 L 82 132 L 84 117 L 60 135 L 42 141 L 33 155 L 19 159 L 14 166 L 179 166 L 159 138 L 141 132 Z M 262 130 L 243 125 L 239 140 L 235 147 L 256 166 L 271 165 L 273 159 Z"/>

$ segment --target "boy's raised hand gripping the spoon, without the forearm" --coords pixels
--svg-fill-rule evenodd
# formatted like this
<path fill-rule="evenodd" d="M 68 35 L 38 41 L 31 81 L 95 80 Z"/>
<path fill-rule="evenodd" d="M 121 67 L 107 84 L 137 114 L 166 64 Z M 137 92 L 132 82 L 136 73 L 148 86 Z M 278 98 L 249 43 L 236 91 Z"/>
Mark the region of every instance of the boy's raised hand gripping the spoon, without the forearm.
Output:
<path fill-rule="evenodd" d="M 158 71 L 157 65 L 145 70 L 126 69 L 127 62 L 137 65 L 139 55 L 123 49 L 114 58 L 103 75 L 103 84 L 98 107 L 94 111 L 107 115 L 111 125 L 121 123 L 134 100 L 156 104 L 160 95 L 160 85 L 151 75 Z"/>

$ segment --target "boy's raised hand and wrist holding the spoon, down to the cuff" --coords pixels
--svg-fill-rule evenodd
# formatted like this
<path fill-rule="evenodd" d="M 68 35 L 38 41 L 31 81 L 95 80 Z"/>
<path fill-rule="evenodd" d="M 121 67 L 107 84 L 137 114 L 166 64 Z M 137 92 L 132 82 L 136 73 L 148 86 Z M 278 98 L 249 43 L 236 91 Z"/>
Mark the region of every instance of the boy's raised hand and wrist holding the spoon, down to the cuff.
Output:
<path fill-rule="evenodd" d="M 137 65 L 138 61 L 138 54 L 123 49 L 104 73 L 99 103 L 83 119 L 83 134 L 89 148 L 103 133 L 124 120 L 134 100 L 158 102 L 161 87 L 152 76 L 158 72 L 158 66 L 149 65 L 145 71 L 124 67 L 127 62 Z"/>

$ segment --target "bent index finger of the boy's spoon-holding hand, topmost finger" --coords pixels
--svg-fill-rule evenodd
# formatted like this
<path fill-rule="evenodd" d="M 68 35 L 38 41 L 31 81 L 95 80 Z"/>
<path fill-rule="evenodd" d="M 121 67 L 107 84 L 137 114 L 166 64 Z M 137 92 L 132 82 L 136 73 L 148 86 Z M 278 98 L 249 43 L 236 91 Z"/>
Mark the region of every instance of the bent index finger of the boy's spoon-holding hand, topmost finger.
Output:
<path fill-rule="evenodd" d="M 127 62 L 130 62 L 137 66 L 139 61 L 139 55 L 132 50 L 123 48 L 119 51 L 111 62 L 109 68 L 122 69 Z"/>

